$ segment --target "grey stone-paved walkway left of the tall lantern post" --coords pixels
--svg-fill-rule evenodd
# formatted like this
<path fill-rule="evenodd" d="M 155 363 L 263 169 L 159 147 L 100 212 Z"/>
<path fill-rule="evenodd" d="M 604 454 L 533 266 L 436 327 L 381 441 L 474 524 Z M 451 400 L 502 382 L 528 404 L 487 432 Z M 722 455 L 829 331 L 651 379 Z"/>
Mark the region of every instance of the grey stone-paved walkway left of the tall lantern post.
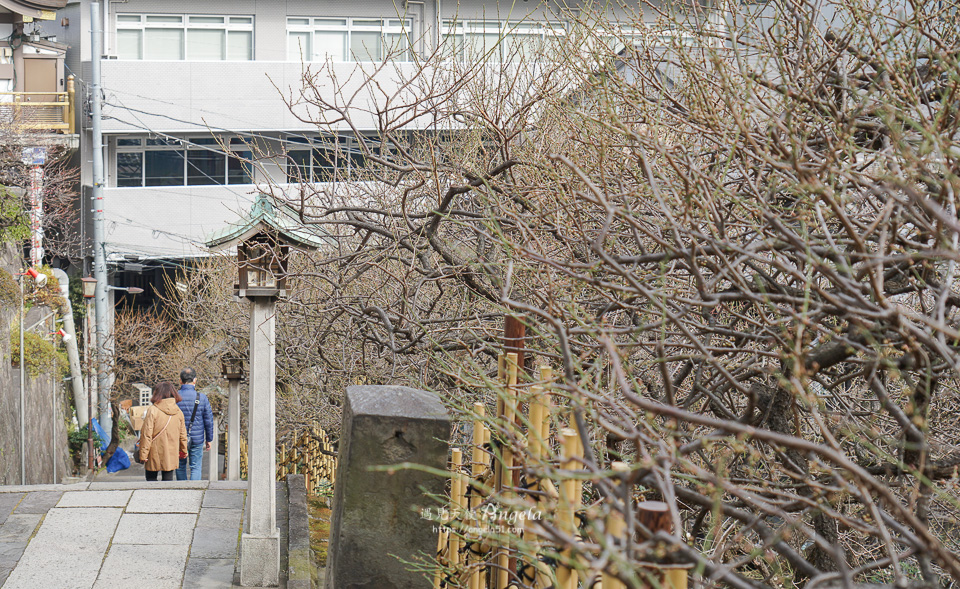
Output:
<path fill-rule="evenodd" d="M 234 587 L 246 488 L 143 480 L 0 487 L 0 583 Z"/>

